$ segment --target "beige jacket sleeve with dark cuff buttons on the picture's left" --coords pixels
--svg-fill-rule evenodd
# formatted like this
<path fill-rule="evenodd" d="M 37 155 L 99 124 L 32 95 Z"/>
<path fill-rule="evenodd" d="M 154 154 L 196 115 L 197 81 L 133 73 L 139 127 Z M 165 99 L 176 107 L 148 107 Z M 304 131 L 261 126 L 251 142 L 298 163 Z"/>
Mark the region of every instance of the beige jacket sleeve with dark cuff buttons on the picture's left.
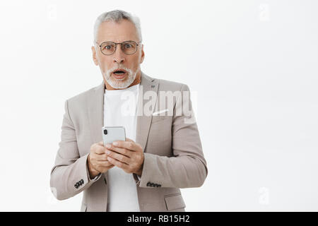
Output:
<path fill-rule="evenodd" d="M 51 191 L 57 199 L 71 198 L 100 179 L 101 174 L 90 179 L 87 157 L 88 154 L 81 157 L 79 155 L 76 131 L 69 114 L 69 102 L 66 100 L 61 142 L 50 179 Z"/>

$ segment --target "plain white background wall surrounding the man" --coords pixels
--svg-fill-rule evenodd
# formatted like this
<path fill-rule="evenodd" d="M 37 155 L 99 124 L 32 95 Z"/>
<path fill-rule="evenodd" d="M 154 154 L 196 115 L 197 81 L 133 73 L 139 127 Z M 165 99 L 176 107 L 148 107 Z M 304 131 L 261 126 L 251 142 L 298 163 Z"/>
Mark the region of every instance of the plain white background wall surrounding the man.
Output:
<path fill-rule="evenodd" d="M 187 211 L 318 210 L 317 1 L 0 1 L 1 211 L 78 211 L 49 172 L 64 101 L 100 84 L 93 23 L 141 19 L 143 72 L 187 83 L 208 178 Z"/>

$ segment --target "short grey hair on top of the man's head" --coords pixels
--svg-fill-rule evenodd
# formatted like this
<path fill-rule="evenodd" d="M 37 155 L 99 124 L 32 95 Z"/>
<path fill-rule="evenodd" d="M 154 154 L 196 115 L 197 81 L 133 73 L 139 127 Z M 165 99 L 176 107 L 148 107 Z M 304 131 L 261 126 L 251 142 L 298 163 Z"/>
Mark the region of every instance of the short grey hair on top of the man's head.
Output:
<path fill-rule="evenodd" d="M 114 10 L 114 11 L 109 11 L 100 14 L 98 18 L 95 21 L 94 25 L 94 46 L 96 46 L 96 37 L 98 34 L 98 28 L 100 27 L 100 24 L 105 21 L 114 21 L 119 23 L 120 20 L 129 20 L 131 23 L 134 23 L 137 31 L 137 36 L 139 38 L 139 42 L 142 41 L 141 37 L 141 25 L 140 25 L 140 20 L 137 16 L 131 15 L 131 13 L 127 13 L 126 11 L 122 10 Z"/>

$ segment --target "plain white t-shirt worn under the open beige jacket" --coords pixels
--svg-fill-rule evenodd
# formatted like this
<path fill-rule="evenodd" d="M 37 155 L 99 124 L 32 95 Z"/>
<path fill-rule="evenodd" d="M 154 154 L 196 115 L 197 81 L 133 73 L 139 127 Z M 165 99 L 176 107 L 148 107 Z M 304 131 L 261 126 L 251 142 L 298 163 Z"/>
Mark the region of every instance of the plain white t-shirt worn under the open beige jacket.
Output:
<path fill-rule="evenodd" d="M 136 109 L 139 84 L 123 90 L 105 90 L 104 126 L 124 126 L 126 138 L 136 141 Z M 133 174 L 119 167 L 108 169 L 109 212 L 140 212 Z"/>

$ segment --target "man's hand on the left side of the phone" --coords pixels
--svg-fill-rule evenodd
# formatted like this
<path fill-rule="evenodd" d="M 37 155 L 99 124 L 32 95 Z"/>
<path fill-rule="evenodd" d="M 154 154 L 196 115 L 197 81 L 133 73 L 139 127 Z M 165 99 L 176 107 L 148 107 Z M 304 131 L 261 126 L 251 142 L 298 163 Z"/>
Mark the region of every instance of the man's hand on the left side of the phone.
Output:
<path fill-rule="evenodd" d="M 114 167 L 114 165 L 107 160 L 105 150 L 106 148 L 102 141 L 93 143 L 93 145 L 90 146 L 90 153 L 87 158 L 90 179 L 93 179 L 98 174 L 107 172 L 108 169 Z"/>

